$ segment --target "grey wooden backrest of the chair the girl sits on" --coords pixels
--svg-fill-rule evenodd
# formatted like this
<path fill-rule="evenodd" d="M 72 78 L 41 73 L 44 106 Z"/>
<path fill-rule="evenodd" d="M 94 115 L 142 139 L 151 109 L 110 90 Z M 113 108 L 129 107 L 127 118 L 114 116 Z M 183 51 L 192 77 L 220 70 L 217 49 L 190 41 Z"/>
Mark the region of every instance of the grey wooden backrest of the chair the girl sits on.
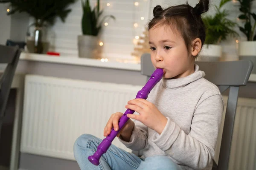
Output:
<path fill-rule="evenodd" d="M 253 62 L 250 60 L 239 60 L 227 62 L 196 62 L 196 64 L 199 65 L 201 71 L 205 72 L 206 76 L 204 78 L 217 85 L 221 93 L 229 88 L 221 149 L 217 165 L 218 170 L 227 170 L 239 86 L 244 86 L 248 82 L 253 69 Z M 141 74 L 147 76 L 149 79 L 154 70 L 155 68 L 151 63 L 150 54 L 143 54 L 141 57 Z"/>

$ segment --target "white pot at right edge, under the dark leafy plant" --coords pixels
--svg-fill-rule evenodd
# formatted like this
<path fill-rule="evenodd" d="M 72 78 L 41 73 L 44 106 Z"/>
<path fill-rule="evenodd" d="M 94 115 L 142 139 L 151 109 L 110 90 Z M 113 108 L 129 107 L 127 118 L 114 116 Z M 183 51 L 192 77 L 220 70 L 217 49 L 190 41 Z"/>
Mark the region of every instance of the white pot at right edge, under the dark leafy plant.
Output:
<path fill-rule="evenodd" d="M 256 74 L 256 41 L 242 41 L 238 46 L 239 59 L 253 62 L 252 74 Z"/>

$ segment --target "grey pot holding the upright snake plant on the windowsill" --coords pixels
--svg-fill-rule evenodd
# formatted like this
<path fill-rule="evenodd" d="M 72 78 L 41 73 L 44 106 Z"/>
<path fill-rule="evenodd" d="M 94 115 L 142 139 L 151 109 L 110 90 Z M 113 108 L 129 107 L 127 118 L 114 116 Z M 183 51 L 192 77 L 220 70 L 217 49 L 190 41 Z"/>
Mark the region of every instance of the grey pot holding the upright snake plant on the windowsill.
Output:
<path fill-rule="evenodd" d="M 79 35 L 77 38 L 79 57 L 93 58 L 99 42 L 98 37 L 91 35 Z"/>

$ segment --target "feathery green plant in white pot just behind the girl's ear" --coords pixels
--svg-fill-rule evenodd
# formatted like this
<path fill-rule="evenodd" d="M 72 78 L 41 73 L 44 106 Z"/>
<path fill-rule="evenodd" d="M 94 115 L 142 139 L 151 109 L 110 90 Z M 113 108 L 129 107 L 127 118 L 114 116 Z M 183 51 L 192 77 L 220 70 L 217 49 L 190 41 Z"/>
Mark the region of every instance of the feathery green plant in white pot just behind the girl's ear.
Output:
<path fill-rule="evenodd" d="M 202 17 L 206 27 L 206 39 L 201 51 L 199 60 L 218 61 L 222 54 L 220 43 L 227 37 L 237 37 L 238 34 L 233 28 L 237 25 L 235 22 L 227 19 L 229 15 L 227 10 L 221 7 L 230 0 L 221 0 L 219 6 L 215 6 L 216 13 L 213 16 Z"/>

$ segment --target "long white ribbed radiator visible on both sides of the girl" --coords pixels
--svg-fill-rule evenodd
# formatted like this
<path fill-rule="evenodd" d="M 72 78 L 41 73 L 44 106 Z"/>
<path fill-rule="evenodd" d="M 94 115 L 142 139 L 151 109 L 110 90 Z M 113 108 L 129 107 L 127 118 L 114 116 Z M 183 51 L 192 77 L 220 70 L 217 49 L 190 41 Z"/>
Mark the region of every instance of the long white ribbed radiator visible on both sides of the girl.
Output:
<path fill-rule="evenodd" d="M 90 133 L 104 139 L 108 118 L 124 112 L 127 101 L 141 88 L 27 75 L 21 152 L 74 160 L 77 137 Z M 113 144 L 131 151 L 118 139 Z M 219 147 L 220 143 L 217 160 Z M 256 99 L 239 98 L 229 170 L 256 170 Z"/>

